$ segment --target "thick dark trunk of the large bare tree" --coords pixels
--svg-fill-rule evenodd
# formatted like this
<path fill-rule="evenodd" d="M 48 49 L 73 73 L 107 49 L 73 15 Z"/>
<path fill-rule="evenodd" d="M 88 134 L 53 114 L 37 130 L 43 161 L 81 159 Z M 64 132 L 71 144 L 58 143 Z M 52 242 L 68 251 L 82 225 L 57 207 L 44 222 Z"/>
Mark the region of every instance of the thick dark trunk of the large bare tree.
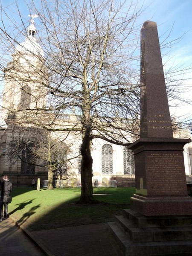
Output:
<path fill-rule="evenodd" d="M 79 204 L 96 204 L 98 202 L 93 198 L 93 159 L 90 153 L 90 143 L 91 137 L 87 133 L 84 135 L 81 145 L 81 198 Z"/>

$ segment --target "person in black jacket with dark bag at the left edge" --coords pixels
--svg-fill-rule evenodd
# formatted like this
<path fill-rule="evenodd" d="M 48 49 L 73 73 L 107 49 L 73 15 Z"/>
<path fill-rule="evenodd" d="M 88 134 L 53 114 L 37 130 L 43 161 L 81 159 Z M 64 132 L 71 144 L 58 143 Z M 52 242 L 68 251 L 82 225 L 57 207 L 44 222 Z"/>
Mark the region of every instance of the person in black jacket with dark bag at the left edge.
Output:
<path fill-rule="evenodd" d="M 3 182 L 0 183 L 0 221 L 3 221 L 3 205 L 4 205 L 4 219 L 9 218 L 8 204 L 3 202 L 4 195 L 10 195 L 12 192 L 12 183 L 7 175 L 3 176 Z"/>

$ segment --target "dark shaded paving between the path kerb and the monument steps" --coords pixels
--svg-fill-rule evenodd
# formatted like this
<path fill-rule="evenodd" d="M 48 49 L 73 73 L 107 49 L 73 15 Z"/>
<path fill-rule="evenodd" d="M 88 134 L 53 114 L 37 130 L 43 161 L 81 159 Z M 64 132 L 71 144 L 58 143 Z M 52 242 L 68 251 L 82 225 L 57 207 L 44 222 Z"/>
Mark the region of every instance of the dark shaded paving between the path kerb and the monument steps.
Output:
<path fill-rule="evenodd" d="M 122 256 L 107 224 L 31 232 L 55 256 Z"/>

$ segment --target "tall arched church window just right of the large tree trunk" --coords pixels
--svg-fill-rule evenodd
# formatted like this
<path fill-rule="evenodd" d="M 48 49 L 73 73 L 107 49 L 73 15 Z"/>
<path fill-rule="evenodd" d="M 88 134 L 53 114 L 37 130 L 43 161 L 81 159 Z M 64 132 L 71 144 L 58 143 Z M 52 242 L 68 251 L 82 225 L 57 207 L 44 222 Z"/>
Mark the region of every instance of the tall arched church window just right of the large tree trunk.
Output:
<path fill-rule="evenodd" d="M 110 144 L 102 146 L 102 174 L 113 174 L 113 149 Z"/>

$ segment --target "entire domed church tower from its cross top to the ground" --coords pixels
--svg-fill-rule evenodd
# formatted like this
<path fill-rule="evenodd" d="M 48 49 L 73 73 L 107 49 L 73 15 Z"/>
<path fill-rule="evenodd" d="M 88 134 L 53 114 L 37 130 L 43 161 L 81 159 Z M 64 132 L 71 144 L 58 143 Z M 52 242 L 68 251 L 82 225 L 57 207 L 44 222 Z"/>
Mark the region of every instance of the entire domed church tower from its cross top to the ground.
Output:
<path fill-rule="evenodd" d="M 12 159 L 9 153 L 15 150 L 12 141 L 20 137 L 35 137 L 38 128 L 31 122 L 35 114 L 41 115 L 47 98 L 47 70 L 45 68 L 44 51 L 38 44 L 34 19 L 32 18 L 26 30 L 23 43 L 15 47 L 10 61 L 4 69 L 4 90 L 0 125 L 0 175 L 12 176 L 13 183 L 26 182 L 30 175 L 36 175 L 31 158 L 32 141 L 21 149 L 20 158 Z M 6 126 L 5 126 L 6 125 Z M 23 135 L 21 135 L 23 134 Z M 18 147 L 18 143 L 15 146 Z M 23 181 L 22 181 L 23 180 Z"/>

